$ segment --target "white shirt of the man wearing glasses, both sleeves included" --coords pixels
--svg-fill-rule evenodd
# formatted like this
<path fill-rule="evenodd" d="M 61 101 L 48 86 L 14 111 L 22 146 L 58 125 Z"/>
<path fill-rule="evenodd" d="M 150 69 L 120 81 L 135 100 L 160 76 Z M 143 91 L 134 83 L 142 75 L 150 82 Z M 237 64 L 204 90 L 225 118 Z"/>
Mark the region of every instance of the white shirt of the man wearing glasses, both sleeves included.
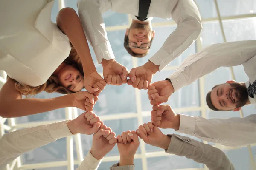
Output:
<path fill-rule="evenodd" d="M 99 63 L 102 59 L 115 58 L 102 18 L 102 13 L 109 9 L 137 16 L 139 0 L 78 1 L 79 18 Z M 193 0 L 151 0 L 147 17 L 166 19 L 172 17 L 177 23 L 175 31 L 169 35 L 160 50 L 149 59 L 155 65 L 160 65 L 159 71 L 182 54 L 201 34 L 201 16 Z"/>

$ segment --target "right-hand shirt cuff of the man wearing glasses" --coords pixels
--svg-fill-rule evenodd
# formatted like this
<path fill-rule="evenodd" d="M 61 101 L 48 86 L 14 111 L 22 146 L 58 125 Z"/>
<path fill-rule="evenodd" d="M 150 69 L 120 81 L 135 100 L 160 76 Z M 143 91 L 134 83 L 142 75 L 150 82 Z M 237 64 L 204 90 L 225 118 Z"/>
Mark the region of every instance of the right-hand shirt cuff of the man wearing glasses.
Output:
<path fill-rule="evenodd" d="M 149 59 L 149 61 L 153 62 L 155 65 L 159 65 L 159 71 L 162 71 L 172 61 L 172 58 L 173 57 L 171 57 L 165 50 L 160 49 Z"/>

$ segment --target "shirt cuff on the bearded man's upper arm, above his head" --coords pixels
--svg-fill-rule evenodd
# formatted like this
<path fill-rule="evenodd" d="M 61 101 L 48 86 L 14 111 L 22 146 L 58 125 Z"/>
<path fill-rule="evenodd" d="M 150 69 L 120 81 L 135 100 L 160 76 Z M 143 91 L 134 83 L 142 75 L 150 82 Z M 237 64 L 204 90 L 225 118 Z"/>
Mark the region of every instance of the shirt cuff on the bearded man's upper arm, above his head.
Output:
<path fill-rule="evenodd" d="M 172 75 L 170 75 L 167 78 L 171 80 L 174 91 L 177 91 L 180 88 L 186 86 L 186 79 L 179 70 L 175 71 Z"/>

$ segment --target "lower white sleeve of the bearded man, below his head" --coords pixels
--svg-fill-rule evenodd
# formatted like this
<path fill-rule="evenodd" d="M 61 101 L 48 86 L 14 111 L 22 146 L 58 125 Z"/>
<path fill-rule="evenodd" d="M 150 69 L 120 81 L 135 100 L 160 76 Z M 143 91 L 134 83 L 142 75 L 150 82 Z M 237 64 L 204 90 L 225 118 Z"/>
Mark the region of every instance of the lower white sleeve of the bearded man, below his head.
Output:
<path fill-rule="evenodd" d="M 180 133 L 226 146 L 256 143 L 256 114 L 245 118 L 205 119 L 180 114 Z"/>

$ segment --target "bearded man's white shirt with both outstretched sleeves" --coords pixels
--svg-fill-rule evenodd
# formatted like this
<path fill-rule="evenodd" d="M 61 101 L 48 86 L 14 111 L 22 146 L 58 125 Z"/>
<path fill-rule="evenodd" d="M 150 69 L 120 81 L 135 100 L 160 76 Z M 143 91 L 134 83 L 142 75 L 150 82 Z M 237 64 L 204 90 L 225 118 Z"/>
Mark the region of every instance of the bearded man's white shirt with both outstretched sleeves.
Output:
<path fill-rule="evenodd" d="M 256 80 L 256 40 L 225 42 L 213 44 L 197 54 L 187 57 L 180 67 L 168 78 L 177 91 L 185 85 L 189 85 L 200 77 L 224 66 L 231 67 L 243 65 L 244 71 L 249 77 L 245 83 Z M 249 96 L 251 103 L 254 99 Z M 190 134 L 208 142 L 219 143 L 227 146 L 241 146 L 256 143 L 256 115 L 246 118 L 229 119 L 205 119 L 180 115 L 181 133 Z"/>

